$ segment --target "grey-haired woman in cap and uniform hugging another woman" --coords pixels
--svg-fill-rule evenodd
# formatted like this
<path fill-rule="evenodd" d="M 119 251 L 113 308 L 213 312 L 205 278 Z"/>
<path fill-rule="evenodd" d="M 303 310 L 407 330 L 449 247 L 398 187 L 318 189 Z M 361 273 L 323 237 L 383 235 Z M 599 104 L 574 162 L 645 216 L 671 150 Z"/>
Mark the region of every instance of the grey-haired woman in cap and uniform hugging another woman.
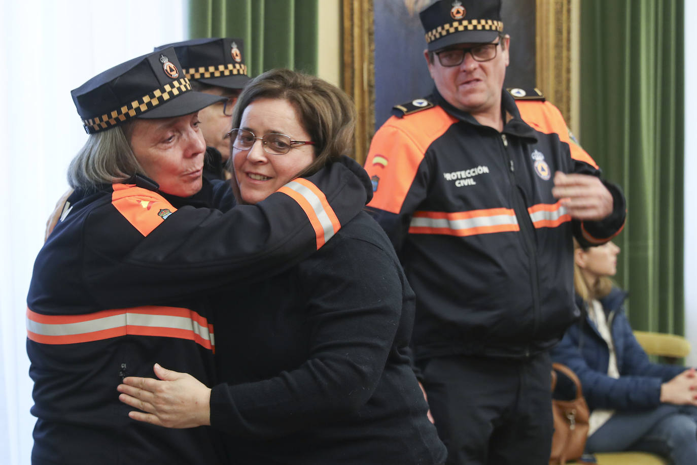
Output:
<path fill-rule="evenodd" d="M 346 159 L 303 180 L 312 189 L 230 208 L 229 185 L 201 176 L 197 112 L 221 98 L 192 91 L 181 70 L 166 48 L 72 91 L 89 137 L 27 296 L 33 464 L 224 462 L 206 427 L 130 420 L 116 386 L 155 363 L 212 384 L 201 296 L 281 273 L 365 206 L 369 180 Z"/>

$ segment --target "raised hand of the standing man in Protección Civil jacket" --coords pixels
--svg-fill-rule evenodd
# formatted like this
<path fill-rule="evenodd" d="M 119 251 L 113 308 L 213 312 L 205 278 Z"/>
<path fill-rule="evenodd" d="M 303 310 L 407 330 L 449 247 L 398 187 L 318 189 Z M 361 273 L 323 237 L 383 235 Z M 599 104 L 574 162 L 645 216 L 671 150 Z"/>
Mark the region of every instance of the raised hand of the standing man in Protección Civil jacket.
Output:
<path fill-rule="evenodd" d="M 613 198 L 599 178 L 590 174 L 554 174 L 552 195 L 576 220 L 597 221 L 613 211 Z"/>

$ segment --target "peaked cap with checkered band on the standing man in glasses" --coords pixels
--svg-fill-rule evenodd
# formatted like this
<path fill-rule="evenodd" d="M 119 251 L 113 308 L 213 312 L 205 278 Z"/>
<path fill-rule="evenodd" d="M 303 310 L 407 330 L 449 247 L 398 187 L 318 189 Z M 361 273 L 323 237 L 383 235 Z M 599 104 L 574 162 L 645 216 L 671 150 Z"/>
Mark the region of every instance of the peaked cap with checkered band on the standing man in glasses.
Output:
<path fill-rule="evenodd" d="M 429 52 L 448 45 L 493 42 L 503 33 L 500 0 L 439 0 L 419 17 Z"/>

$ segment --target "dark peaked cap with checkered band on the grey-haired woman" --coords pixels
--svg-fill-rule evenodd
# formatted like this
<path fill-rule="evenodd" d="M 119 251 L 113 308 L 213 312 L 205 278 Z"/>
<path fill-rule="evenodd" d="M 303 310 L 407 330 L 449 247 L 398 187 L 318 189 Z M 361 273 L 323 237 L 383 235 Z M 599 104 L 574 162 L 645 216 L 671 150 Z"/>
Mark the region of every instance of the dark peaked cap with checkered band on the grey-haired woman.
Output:
<path fill-rule="evenodd" d="M 70 92 L 86 132 L 115 128 L 132 118 L 171 118 L 199 111 L 219 96 L 191 90 L 173 48 L 114 66 Z"/>

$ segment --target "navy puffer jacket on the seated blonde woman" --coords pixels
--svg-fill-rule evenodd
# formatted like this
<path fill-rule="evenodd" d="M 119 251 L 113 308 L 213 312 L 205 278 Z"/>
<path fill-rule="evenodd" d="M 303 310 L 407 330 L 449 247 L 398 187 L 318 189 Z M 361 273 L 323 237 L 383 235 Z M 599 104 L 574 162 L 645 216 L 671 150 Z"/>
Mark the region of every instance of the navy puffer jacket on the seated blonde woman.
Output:
<path fill-rule="evenodd" d="M 607 375 L 608 345 L 588 317 L 587 305 L 579 296 L 576 296 L 576 302 L 585 309 L 583 316 L 552 350 L 554 362 L 567 365 L 579 376 L 583 396 L 591 410 L 636 410 L 658 406 L 661 384 L 684 370 L 684 367 L 649 361 L 627 321 L 623 307 L 625 298 L 627 293 L 615 287 L 600 300 L 611 326 L 619 379 Z"/>

